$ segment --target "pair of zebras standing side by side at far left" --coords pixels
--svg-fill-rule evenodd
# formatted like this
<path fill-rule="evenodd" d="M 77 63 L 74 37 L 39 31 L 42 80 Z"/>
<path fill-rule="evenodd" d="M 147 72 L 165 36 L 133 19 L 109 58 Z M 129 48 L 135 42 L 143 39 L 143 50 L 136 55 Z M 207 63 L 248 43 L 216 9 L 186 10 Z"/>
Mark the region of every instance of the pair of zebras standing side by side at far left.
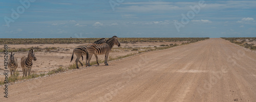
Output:
<path fill-rule="evenodd" d="M 33 65 L 32 60 L 36 61 L 36 57 L 33 51 L 34 51 L 33 49 L 29 49 L 28 57 L 24 56 L 20 61 L 20 66 L 22 66 L 22 71 L 23 71 L 23 77 L 24 76 L 27 77 L 27 73 L 29 73 L 30 75 L 30 71 Z M 14 54 L 12 54 L 12 52 L 9 54 L 10 54 L 10 58 L 8 59 L 8 68 L 12 75 L 12 73 L 15 73 L 18 67 L 18 62 L 17 62 L 17 58 L 14 57 Z"/>

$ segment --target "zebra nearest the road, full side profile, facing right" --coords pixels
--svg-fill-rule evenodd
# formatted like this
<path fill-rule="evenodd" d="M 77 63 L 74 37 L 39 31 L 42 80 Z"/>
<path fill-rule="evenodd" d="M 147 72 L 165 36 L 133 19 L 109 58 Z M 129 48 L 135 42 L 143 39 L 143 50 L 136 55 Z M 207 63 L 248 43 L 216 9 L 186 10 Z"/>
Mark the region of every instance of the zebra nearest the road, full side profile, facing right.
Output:
<path fill-rule="evenodd" d="M 114 45 L 117 45 L 118 47 L 120 46 L 120 43 L 117 40 L 117 38 L 118 38 L 117 36 L 113 36 L 109 40 L 106 40 L 106 43 L 88 45 L 88 47 L 87 47 L 88 65 L 90 66 L 90 60 L 91 60 L 93 54 L 96 54 L 96 55 L 105 54 L 105 62 L 104 63 L 105 63 L 105 65 L 109 65 L 107 61 L 108 61 L 110 50 L 112 49 L 112 47 Z"/>

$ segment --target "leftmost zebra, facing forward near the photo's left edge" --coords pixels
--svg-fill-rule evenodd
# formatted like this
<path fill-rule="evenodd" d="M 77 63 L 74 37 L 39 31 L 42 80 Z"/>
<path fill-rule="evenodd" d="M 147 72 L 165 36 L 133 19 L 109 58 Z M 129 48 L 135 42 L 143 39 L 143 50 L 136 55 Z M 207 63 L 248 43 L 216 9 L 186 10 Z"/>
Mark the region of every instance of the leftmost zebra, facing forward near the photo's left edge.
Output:
<path fill-rule="evenodd" d="M 14 54 L 15 53 L 12 54 L 12 52 L 9 53 L 10 58 L 8 59 L 8 68 L 10 69 L 11 75 L 12 75 L 12 73 L 13 74 L 15 73 L 15 71 L 18 67 L 18 61 L 17 61 L 16 57 L 14 57 Z"/>

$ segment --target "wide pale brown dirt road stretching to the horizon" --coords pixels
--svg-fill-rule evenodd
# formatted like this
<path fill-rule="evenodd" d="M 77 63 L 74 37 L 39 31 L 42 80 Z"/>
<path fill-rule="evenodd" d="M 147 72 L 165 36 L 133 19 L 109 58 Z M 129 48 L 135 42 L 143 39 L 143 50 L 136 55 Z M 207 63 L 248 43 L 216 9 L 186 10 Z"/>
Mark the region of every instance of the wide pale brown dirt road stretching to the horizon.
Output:
<path fill-rule="evenodd" d="M 1 101 L 256 101 L 256 53 L 221 38 L 10 85 Z"/>

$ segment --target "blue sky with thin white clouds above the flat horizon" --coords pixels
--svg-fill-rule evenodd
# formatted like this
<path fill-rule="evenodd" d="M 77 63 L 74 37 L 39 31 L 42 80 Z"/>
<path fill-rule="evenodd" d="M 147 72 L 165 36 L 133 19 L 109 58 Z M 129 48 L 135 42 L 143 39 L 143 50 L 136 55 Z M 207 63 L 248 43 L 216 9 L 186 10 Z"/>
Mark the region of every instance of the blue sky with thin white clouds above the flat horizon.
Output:
<path fill-rule="evenodd" d="M 256 1 L 30 0 L 29 4 L 0 2 L 1 38 L 256 37 Z M 182 27 L 177 30 L 176 25 Z"/>

